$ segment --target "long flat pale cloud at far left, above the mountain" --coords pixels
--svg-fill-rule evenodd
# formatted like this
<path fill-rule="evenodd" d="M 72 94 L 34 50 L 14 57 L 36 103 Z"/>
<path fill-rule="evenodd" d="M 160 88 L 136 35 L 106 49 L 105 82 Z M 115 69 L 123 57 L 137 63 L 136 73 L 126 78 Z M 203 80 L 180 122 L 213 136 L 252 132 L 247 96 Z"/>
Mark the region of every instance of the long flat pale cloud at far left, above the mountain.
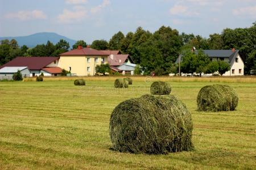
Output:
<path fill-rule="evenodd" d="M 18 11 L 16 13 L 9 13 L 6 18 L 16 18 L 19 20 L 31 20 L 31 19 L 46 19 L 47 16 L 41 10 L 33 11 Z"/>

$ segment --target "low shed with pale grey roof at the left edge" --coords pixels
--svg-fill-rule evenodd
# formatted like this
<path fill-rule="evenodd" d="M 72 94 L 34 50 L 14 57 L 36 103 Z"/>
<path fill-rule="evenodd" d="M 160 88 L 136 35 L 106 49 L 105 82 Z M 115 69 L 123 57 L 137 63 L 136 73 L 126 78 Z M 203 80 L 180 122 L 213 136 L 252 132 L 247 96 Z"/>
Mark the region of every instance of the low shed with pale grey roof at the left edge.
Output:
<path fill-rule="evenodd" d="M 13 80 L 13 74 L 17 73 L 18 70 L 22 74 L 23 78 L 28 77 L 31 74 L 31 71 L 28 69 L 28 67 L 3 67 L 0 69 L 0 80 Z"/>

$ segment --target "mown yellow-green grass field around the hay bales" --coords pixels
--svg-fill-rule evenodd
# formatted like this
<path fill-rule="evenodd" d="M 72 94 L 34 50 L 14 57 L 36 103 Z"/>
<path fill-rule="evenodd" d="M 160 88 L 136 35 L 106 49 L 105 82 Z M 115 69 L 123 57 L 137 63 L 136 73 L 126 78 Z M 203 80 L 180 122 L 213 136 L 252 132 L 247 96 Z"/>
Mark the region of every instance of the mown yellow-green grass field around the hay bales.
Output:
<path fill-rule="evenodd" d="M 195 151 L 135 155 L 109 150 L 109 118 L 121 101 L 150 92 L 151 79 L 126 90 L 114 78 L 0 82 L 0 169 L 255 169 L 256 80 L 164 80 L 189 108 Z M 157 79 L 157 78 L 154 78 Z M 240 97 L 236 111 L 197 112 L 200 88 L 224 82 Z"/>

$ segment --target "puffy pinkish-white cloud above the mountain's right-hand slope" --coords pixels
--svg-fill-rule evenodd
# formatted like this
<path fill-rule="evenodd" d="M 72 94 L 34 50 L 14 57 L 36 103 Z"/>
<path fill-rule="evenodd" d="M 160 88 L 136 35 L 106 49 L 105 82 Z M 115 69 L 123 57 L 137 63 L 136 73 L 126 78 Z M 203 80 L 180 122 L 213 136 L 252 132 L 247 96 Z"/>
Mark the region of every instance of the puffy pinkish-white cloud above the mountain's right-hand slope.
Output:
<path fill-rule="evenodd" d="M 87 17 L 87 11 L 83 8 L 76 8 L 75 10 L 64 9 L 63 13 L 60 14 L 57 18 L 60 23 L 73 23 L 80 22 L 81 20 Z"/>

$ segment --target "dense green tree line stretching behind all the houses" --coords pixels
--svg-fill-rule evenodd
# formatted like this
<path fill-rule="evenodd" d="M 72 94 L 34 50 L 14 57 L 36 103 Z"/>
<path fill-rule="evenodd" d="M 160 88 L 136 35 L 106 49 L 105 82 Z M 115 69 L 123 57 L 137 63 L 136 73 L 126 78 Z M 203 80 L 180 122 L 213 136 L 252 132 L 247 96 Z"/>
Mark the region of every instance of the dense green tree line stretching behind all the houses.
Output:
<path fill-rule="evenodd" d="M 78 45 L 85 47 L 87 43 L 84 40 L 79 40 L 72 48 L 75 49 Z M 193 47 L 196 49 L 239 49 L 240 56 L 245 62 L 245 74 L 256 70 L 256 22 L 249 28 L 226 28 L 220 34 L 209 35 L 209 38 L 184 32 L 179 33 L 177 29 L 165 26 L 153 33 L 138 27 L 135 32 L 128 32 L 126 35 L 119 31 L 109 41 L 94 40 L 90 46 L 98 50 L 120 50 L 123 54 L 130 54 L 134 62 L 141 66 L 144 74 L 150 74 L 151 71 L 155 71 L 156 75 L 176 73 L 176 59 L 181 53 L 192 55 L 188 53 L 188 50 Z M 16 40 L 2 40 L 0 65 L 16 56 L 58 56 L 69 49 L 70 46 L 65 40 L 60 40 L 55 45 L 48 41 L 47 44 L 36 45 L 34 48 L 28 48 L 26 45 L 19 47 Z M 222 63 L 213 62 L 209 65 L 206 61 L 204 66 L 192 64 L 191 68 L 183 63 L 181 72 L 191 73 L 191 70 L 196 70 L 198 73 L 200 71 L 209 73 L 216 70 L 217 64 L 220 69 Z"/>

